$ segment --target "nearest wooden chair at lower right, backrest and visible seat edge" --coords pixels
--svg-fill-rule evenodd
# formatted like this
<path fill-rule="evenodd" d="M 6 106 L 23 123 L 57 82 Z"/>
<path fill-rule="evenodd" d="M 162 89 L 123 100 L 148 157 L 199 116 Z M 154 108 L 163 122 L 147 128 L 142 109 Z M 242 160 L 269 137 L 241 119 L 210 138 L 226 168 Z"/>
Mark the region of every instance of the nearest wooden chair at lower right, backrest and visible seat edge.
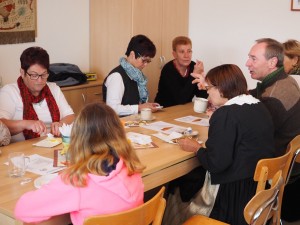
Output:
<path fill-rule="evenodd" d="M 263 225 L 274 213 L 279 210 L 279 194 L 284 186 L 282 171 L 279 170 L 272 179 L 270 189 L 262 190 L 248 202 L 244 208 L 244 218 L 250 225 Z M 274 217 L 274 222 L 280 218 Z M 226 225 L 227 223 L 208 218 L 202 215 L 195 215 L 189 218 L 183 225 Z"/>

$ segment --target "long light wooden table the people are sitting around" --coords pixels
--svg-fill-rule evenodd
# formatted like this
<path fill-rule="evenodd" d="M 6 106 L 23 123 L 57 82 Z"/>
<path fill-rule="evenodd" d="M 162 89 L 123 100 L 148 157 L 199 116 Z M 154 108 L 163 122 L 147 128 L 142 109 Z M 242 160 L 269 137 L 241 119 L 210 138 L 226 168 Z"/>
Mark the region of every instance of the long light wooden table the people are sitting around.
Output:
<path fill-rule="evenodd" d="M 169 107 L 153 115 L 155 116 L 155 121 L 164 121 L 184 127 L 192 127 L 193 130 L 199 132 L 198 138 L 200 140 L 206 141 L 207 139 L 207 127 L 181 123 L 174 120 L 187 115 L 199 116 L 198 113 L 193 112 L 191 103 Z M 131 117 L 124 117 L 122 120 L 126 121 L 130 118 Z M 156 131 L 141 127 L 126 128 L 126 132 L 129 131 L 148 135 L 157 133 Z M 0 225 L 23 224 L 14 219 L 14 206 L 23 193 L 35 189 L 33 182 L 20 185 L 21 178 L 10 178 L 7 176 L 7 166 L 4 165 L 4 163 L 7 161 L 8 153 L 21 151 L 26 155 L 39 154 L 41 156 L 53 158 L 54 149 L 61 148 L 61 146 L 56 146 L 54 148 L 32 146 L 32 144 L 36 143 L 38 140 L 39 139 L 27 140 L 0 148 L 2 151 L 2 154 L 0 155 Z M 146 165 L 146 169 L 143 172 L 145 191 L 178 178 L 199 165 L 193 153 L 182 151 L 178 145 L 165 143 L 154 136 L 152 136 L 152 140 L 158 148 L 136 150 L 142 163 Z M 29 172 L 26 172 L 25 176 L 31 177 L 33 180 L 38 177 L 38 175 Z M 52 218 L 43 224 L 60 225 L 66 224 L 66 221 L 68 220 L 69 216 L 64 215 Z"/>

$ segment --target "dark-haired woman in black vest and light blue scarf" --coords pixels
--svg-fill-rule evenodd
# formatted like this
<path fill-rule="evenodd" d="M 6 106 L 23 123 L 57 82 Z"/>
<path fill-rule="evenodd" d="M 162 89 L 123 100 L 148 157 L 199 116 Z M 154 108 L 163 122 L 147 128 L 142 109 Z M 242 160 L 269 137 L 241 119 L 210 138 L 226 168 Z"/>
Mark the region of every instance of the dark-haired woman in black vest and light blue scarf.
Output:
<path fill-rule="evenodd" d="M 142 108 L 157 111 L 157 103 L 148 102 L 147 77 L 142 70 L 155 56 L 153 42 L 144 35 L 131 38 L 126 57 L 121 57 L 120 65 L 105 78 L 103 101 L 119 116 L 137 114 Z"/>

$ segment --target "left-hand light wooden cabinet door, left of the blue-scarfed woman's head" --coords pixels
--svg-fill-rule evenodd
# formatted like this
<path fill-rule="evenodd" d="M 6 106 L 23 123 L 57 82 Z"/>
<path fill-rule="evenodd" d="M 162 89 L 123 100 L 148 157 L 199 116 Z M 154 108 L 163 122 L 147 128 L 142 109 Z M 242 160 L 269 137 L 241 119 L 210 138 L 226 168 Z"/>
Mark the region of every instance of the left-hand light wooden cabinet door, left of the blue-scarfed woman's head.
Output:
<path fill-rule="evenodd" d="M 132 36 L 132 0 L 90 0 L 90 71 L 104 79 Z"/>

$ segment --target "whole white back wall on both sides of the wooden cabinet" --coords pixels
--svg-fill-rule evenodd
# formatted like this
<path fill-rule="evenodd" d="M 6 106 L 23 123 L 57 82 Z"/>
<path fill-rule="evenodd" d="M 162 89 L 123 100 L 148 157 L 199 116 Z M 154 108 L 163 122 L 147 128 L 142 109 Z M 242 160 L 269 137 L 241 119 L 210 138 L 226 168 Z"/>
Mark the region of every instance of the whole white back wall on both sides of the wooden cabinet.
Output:
<path fill-rule="evenodd" d="M 122 0 L 120 0 L 122 1 Z M 235 63 L 251 80 L 245 61 L 254 41 L 272 37 L 279 41 L 300 40 L 300 12 L 290 11 L 290 0 L 190 0 L 189 34 L 194 59 L 205 69 Z M 4 83 L 19 76 L 19 56 L 29 47 L 45 48 L 51 62 L 77 64 L 89 68 L 88 0 L 38 0 L 38 37 L 35 43 L 0 45 L 0 75 Z"/>

